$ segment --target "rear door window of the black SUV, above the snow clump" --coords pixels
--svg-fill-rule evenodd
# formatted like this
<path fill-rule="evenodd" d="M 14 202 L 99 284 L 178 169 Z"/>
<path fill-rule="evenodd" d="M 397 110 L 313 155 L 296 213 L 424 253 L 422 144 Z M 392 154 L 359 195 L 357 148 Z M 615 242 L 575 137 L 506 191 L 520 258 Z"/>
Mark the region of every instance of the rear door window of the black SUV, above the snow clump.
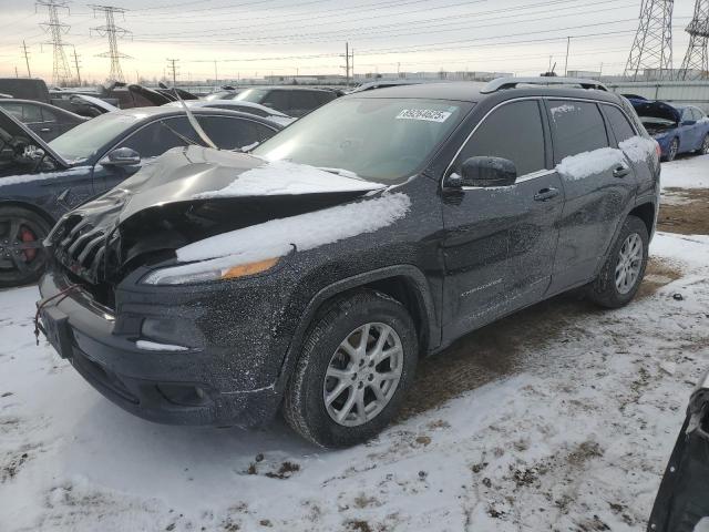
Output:
<path fill-rule="evenodd" d="M 608 146 L 606 126 L 595 103 L 552 100 L 549 119 L 555 163 L 571 155 Z"/>

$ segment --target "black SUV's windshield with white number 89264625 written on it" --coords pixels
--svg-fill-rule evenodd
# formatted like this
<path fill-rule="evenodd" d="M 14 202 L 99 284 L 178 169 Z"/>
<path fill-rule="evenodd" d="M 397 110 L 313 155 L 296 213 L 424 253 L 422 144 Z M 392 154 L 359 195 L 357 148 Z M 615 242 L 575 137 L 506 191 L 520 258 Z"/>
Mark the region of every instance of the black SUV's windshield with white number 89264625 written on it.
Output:
<path fill-rule="evenodd" d="M 442 100 L 346 98 L 294 122 L 251 153 L 398 182 L 421 167 L 469 109 Z"/>

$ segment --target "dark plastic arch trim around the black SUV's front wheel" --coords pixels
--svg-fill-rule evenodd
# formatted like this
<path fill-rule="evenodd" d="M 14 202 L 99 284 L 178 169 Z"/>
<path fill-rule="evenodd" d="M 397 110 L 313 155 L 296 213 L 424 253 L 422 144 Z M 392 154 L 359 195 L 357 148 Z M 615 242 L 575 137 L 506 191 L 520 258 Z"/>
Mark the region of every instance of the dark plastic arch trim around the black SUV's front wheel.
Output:
<path fill-rule="evenodd" d="M 363 274 L 358 274 L 352 277 L 347 277 L 345 279 L 332 283 L 331 285 L 326 286 L 320 289 L 306 305 L 306 308 L 302 311 L 302 317 L 298 323 L 296 331 L 292 335 L 290 344 L 288 345 L 288 349 L 286 350 L 286 356 L 284 357 L 284 361 L 280 368 L 280 374 L 276 380 L 276 389 L 280 392 L 285 389 L 286 382 L 292 372 L 292 368 L 298 360 L 298 354 L 300 350 L 300 346 L 302 345 L 302 340 L 305 339 L 308 327 L 312 323 L 312 318 L 317 314 L 318 309 L 321 305 L 328 299 L 342 294 L 347 290 L 351 290 L 352 288 L 358 288 L 360 286 L 366 286 L 370 283 L 374 283 L 377 280 L 383 280 L 391 277 L 405 277 L 408 280 L 412 282 L 415 286 L 415 293 L 418 297 L 418 304 L 421 306 L 424 313 L 425 324 L 428 326 L 427 337 L 428 337 L 428 346 L 424 347 L 423 352 L 428 352 L 431 349 L 435 349 L 441 342 L 441 327 L 439 324 L 439 317 L 435 311 L 435 307 L 433 305 L 433 296 L 431 294 L 431 288 L 425 279 L 423 273 L 415 266 L 410 264 L 401 264 L 387 266 L 384 268 L 373 269 L 371 272 L 366 272 Z"/>

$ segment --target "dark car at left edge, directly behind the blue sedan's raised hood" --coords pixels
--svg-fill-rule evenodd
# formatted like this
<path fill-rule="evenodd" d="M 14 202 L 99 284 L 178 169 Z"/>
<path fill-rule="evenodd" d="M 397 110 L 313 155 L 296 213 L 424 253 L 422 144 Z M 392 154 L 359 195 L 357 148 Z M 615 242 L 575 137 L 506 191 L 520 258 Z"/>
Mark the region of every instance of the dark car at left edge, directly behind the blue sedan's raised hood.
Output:
<path fill-rule="evenodd" d="M 90 120 L 55 105 L 31 100 L 0 100 L 0 109 L 18 119 L 47 142 Z"/>

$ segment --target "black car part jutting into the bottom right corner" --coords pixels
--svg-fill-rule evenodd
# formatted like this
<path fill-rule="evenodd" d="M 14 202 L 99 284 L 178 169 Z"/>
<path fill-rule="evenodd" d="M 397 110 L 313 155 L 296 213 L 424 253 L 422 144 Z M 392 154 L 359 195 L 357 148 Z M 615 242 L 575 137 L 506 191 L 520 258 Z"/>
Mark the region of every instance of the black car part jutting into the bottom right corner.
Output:
<path fill-rule="evenodd" d="M 709 530 L 709 372 L 689 401 L 655 500 L 649 532 Z"/>

